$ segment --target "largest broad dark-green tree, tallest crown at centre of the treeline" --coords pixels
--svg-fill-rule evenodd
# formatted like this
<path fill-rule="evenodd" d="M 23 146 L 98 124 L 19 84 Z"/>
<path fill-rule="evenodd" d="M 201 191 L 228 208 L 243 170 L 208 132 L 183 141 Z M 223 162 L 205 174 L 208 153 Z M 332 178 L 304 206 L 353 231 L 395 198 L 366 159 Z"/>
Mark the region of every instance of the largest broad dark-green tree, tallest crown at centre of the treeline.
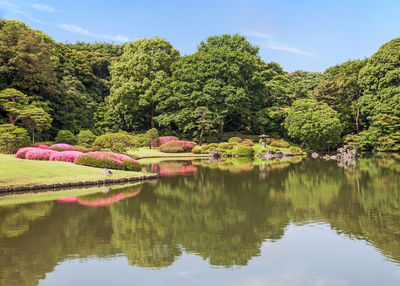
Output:
<path fill-rule="evenodd" d="M 204 106 L 215 117 L 220 135 L 225 128 L 249 128 L 253 109 L 266 104 L 262 65 L 258 48 L 245 37 L 208 38 L 195 54 L 173 66 L 157 121 L 183 131 L 196 108 Z"/>

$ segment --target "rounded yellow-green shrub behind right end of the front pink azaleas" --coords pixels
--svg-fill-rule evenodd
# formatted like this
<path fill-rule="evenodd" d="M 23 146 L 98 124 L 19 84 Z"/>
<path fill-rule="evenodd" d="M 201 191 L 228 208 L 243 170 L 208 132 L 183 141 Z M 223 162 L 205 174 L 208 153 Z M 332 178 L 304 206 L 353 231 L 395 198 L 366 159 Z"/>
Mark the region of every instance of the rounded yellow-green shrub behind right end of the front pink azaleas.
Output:
<path fill-rule="evenodd" d="M 139 142 L 135 136 L 118 132 L 97 137 L 93 145 L 100 146 L 101 148 L 108 148 L 113 152 L 125 152 L 129 148 L 138 147 Z"/>

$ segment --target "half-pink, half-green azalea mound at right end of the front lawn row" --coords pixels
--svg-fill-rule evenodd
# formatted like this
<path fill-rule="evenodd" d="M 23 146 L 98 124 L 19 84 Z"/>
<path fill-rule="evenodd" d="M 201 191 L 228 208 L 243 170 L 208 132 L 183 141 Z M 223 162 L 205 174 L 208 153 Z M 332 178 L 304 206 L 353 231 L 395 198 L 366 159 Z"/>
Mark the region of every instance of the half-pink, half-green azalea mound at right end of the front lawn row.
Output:
<path fill-rule="evenodd" d="M 75 164 L 127 171 L 140 171 L 140 163 L 129 156 L 113 152 L 89 152 L 80 155 Z"/>

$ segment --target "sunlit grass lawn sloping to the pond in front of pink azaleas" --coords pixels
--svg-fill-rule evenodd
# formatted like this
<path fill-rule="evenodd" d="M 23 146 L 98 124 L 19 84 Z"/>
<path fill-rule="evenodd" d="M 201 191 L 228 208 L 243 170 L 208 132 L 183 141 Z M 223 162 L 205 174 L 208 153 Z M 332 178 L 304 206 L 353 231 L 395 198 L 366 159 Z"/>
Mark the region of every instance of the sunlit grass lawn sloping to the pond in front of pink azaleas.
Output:
<path fill-rule="evenodd" d="M 106 176 L 100 168 L 67 162 L 22 160 L 15 158 L 14 155 L 0 154 L 0 187 L 97 181 L 146 175 L 149 174 L 112 170 L 112 175 Z"/>

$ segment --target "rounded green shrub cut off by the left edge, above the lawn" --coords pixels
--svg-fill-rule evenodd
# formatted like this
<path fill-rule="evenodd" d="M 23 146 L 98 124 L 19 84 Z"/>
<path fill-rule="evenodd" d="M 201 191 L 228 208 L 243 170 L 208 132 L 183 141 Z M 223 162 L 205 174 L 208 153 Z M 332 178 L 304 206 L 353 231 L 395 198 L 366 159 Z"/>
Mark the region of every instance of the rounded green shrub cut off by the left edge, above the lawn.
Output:
<path fill-rule="evenodd" d="M 21 147 L 29 146 L 30 138 L 24 128 L 12 124 L 0 125 L 0 152 L 13 154 Z"/>

